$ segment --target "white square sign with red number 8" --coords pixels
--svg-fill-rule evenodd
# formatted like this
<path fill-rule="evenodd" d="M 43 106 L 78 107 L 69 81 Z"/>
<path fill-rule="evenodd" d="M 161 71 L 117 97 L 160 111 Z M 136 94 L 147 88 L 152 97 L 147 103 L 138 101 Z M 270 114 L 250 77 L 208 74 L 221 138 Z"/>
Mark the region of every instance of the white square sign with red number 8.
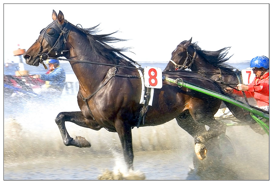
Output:
<path fill-rule="evenodd" d="M 144 68 L 144 85 L 147 88 L 162 88 L 162 70 L 158 67 Z"/>

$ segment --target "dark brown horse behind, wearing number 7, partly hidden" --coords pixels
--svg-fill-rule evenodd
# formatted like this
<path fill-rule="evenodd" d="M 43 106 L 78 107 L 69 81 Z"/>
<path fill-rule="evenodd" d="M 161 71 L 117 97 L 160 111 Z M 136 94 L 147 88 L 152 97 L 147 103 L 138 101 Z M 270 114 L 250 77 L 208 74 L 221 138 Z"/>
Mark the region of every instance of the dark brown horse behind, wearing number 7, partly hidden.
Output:
<path fill-rule="evenodd" d="M 242 83 L 241 72 L 224 63 L 231 57 L 226 57 L 230 47 L 225 47 L 217 51 L 206 51 L 202 50 L 197 43 L 191 43 L 191 40 L 185 40 L 177 45 L 164 71 L 190 69 L 195 73 L 214 80 L 222 89 L 228 86 L 235 88 L 238 83 Z M 224 93 L 224 95 L 229 94 Z M 235 95 L 229 96 L 237 98 L 240 101 L 245 101 L 245 99 Z M 258 124 L 253 124 L 253 119 L 249 116 L 249 112 L 230 103 L 225 103 L 225 105 L 240 121 L 249 122 L 254 131 L 264 134 L 264 131 Z"/>

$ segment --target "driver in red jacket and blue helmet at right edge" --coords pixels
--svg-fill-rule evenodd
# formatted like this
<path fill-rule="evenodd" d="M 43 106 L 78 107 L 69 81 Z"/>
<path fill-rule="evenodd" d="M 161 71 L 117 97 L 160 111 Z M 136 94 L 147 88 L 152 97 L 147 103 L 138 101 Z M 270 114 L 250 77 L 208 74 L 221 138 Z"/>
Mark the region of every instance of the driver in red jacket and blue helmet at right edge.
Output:
<path fill-rule="evenodd" d="M 238 84 L 237 89 L 225 88 L 225 92 L 242 96 L 245 91 L 247 97 L 254 97 L 258 108 L 269 111 L 269 59 L 266 56 L 257 56 L 250 61 L 250 67 L 256 75 L 249 85 Z"/>

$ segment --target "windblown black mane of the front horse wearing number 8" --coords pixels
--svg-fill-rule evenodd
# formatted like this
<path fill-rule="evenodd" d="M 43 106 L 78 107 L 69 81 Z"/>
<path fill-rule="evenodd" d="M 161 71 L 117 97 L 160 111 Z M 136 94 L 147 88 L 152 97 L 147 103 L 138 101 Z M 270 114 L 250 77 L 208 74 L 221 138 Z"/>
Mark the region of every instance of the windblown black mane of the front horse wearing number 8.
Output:
<path fill-rule="evenodd" d="M 99 55 L 99 56 L 103 56 L 106 60 L 109 60 L 111 62 L 111 64 L 120 64 L 120 65 L 125 65 L 125 66 L 132 65 L 131 61 L 125 60 L 119 54 L 119 52 L 128 51 L 130 48 L 127 48 L 127 47 L 114 48 L 114 47 L 111 47 L 108 44 L 106 44 L 106 43 L 116 43 L 119 41 L 126 41 L 126 40 L 111 36 L 112 34 L 116 33 L 117 31 L 110 33 L 110 34 L 96 34 L 100 31 L 97 28 L 99 26 L 99 24 L 94 27 L 87 28 L 87 29 L 84 29 L 84 28 L 81 28 L 78 26 L 74 26 L 73 24 L 71 24 L 71 25 L 76 30 L 78 30 L 81 34 L 86 35 L 88 42 L 93 49 L 94 54 Z M 77 24 L 77 25 L 79 25 L 79 24 Z"/>

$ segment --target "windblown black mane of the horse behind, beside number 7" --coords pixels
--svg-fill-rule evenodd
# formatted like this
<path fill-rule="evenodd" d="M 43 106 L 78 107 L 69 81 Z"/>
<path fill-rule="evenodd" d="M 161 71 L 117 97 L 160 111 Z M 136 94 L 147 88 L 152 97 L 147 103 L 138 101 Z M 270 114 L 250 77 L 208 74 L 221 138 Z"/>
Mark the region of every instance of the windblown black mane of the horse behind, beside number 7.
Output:
<path fill-rule="evenodd" d="M 181 42 L 180 44 L 185 44 L 187 40 Z M 217 51 L 207 51 L 207 50 L 202 50 L 198 45 L 197 42 L 191 43 L 190 47 L 195 48 L 196 52 L 201 55 L 202 57 L 205 58 L 205 60 L 210 63 L 211 65 L 215 66 L 216 68 L 220 69 L 225 69 L 225 70 L 233 70 L 234 67 L 225 64 L 224 62 L 229 60 L 230 57 L 226 57 L 228 54 L 228 50 L 231 47 L 225 47 Z"/>

